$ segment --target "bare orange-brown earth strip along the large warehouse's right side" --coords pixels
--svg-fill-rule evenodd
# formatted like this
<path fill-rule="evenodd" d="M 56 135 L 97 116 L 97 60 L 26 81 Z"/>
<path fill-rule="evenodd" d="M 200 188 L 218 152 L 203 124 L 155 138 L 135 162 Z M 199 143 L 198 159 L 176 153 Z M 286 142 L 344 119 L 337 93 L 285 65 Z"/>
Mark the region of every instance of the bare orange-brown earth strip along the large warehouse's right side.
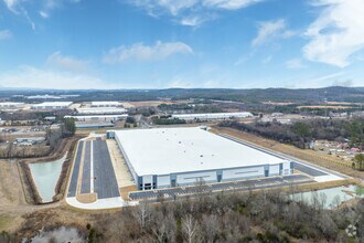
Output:
<path fill-rule="evenodd" d="M 320 154 L 320 152 L 317 152 L 313 150 L 309 150 L 309 149 L 296 148 L 290 145 L 280 144 L 275 140 L 261 138 L 256 135 L 239 131 L 239 130 L 232 129 L 232 128 L 221 128 L 221 127 L 215 126 L 213 128 L 213 131 L 214 133 L 225 133 L 231 136 L 240 138 L 243 140 L 259 145 L 261 147 L 266 147 L 271 150 L 276 150 L 276 151 L 296 157 L 298 159 L 306 160 L 308 162 L 315 163 L 318 166 L 321 166 L 321 167 L 324 167 L 328 169 L 332 169 L 332 170 L 342 172 L 342 173 L 351 176 L 351 177 L 364 179 L 364 172 L 352 169 L 351 161 L 344 161 L 334 156 L 323 155 L 323 154 Z"/>

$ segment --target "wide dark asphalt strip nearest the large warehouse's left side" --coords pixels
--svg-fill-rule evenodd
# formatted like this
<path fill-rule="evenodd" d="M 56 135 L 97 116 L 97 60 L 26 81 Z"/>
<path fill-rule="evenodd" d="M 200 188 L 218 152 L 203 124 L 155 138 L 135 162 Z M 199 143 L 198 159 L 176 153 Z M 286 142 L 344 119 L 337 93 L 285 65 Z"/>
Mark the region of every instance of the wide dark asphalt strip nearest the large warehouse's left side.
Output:
<path fill-rule="evenodd" d="M 94 190 L 98 199 L 120 197 L 107 144 L 100 138 L 93 141 Z"/>

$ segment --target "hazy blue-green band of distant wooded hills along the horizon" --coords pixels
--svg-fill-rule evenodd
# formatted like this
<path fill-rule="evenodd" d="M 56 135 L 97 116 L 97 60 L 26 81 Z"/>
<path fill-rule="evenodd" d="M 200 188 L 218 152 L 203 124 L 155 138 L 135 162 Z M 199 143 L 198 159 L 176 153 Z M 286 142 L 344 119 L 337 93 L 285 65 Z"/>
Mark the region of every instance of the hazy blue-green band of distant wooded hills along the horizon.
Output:
<path fill-rule="evenodd" d="M 81 101 L 153 101 L 160 98 L 171 99 L 220 99 L 244 103 L 259 102 L 293 102 L 318 104 L 328 102 L 364 102 L 364 87 L 324 87 L 324 88 L 168 88 L 168 89 L 115 89 L 115 91 L 47 91 L 47 89 L 0 89 L 0 98 L 12 95 L 35 94 L 79 94 L 79 97 L 68 98 Z M 20 97 L 11 98 L 19 101 Z"/>

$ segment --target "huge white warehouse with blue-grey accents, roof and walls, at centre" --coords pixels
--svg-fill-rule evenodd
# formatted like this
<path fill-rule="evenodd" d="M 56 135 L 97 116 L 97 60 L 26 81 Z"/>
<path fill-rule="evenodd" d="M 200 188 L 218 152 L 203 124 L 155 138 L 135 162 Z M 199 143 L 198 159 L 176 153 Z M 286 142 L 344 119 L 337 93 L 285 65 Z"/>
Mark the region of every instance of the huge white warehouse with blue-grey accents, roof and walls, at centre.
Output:
<path fill-rule="evenodd" d="M 291 173 L 291 162 L 200 128 L 108 131 L 139 190 Z"/>

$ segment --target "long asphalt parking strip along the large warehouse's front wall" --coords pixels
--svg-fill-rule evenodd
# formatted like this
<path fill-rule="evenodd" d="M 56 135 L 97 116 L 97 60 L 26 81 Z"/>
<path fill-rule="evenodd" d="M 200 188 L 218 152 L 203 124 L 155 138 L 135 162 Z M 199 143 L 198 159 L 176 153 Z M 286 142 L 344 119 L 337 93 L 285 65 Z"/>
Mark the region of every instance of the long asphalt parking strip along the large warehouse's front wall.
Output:
<path fill-rule="evenodd" d="M 254 189 L 268 189 L 268 188 L 280 188 L 286 186 L 298 186 L 302 183 L 315 182 L 307 176 L 303 175 L 291 175 L 283 177 L 268 177 L 258 178 L 251 180 L 242 181 L 229 181 L 229 182 L 218 182 L 212 184 L 203 186 L 192 186 L 192 187 L 179 187 L 179 188 L 168 188 L 158 189 L 150 191 L 137 191 L 130 192 L 129 198 L 131 200 L 154 200 L 158 197 L 163 197 L 164 199 L 174 199 L 175 197 L 196 194 L 196 193 L 218 193 L 221 191 L 249 191 Z"/>

